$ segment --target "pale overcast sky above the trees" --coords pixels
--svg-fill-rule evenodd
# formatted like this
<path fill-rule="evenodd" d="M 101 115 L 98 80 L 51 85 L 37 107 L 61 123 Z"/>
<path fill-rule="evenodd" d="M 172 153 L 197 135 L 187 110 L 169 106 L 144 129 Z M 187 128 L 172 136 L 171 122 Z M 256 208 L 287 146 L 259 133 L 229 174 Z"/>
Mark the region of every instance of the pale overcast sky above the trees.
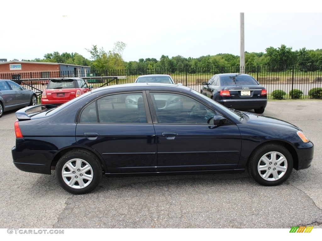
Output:
<path fill-rule="evenodd" d="M 293 50 L 322 49 L 322 13 L 309 13 L 321 10 L 317 1 L 225 2 L 3 1 L 0 58 L 43 58 L 58 51 L 90 59 L 86 49 L 97 45 L 108 52 L 117 41 L 127 44 L 125 61 L 163 54 L 240 55 L 240 12 L 247 52 L 265 53 L 282 44 Z"/>

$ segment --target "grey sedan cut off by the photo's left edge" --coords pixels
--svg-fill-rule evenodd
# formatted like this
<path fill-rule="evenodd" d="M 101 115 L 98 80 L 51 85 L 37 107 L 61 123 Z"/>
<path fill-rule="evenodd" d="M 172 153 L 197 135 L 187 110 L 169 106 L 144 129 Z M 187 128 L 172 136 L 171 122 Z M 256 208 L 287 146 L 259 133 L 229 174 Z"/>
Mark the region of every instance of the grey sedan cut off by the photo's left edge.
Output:
<path fill-rule="evenodd" d="M 33 90 L 21 87 L 12 80 L 0 79 L 0 117 L 5 111 L 36 104 L 37 95 Z"/>

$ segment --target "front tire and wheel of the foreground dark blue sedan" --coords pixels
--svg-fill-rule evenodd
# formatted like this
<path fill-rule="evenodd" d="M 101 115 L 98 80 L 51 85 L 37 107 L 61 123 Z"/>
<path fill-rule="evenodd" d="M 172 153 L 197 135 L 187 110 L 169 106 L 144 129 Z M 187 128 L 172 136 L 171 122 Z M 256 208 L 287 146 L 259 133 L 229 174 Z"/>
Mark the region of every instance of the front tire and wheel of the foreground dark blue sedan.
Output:
<path fill-rule="evenodd" d="M 284 146 L 266 144 L 251 154 L 247 169 L 257 183 L 276 186 L 289 178 L 293 169 L 293 158 Z"/>

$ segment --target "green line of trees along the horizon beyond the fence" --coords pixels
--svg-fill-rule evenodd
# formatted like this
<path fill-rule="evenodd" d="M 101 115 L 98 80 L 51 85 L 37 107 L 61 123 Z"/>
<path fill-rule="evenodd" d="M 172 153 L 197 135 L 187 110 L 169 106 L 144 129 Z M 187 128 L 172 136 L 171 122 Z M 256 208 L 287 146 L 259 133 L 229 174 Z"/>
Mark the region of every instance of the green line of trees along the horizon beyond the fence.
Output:
<path fill-rule="evenodd" d="M 123 42 L 114 43 L 114 48 L 105 51 L 92 45 L 90 49 L 86 49 L 91 54 L 91 59 L 84 58 L 78 53 L 62 53 L 53 52 L 44 55 L 44 58 L 35 58 L 36 62 L 52 62 L 74 64 L 82 66 L 90 66 L 92 72 L 104 72 L 107 69 L 126 69 L 129 74 L 131 70 L 141 71 L 144 73 L 146 69 L 167 70 L 175 73 L 177 70 L 188 69 L 212 69 L 213 67 L 231 66 L 238 67 L 240 65 L 238 55 L 220 53 L 216 55 L 201 56 L 199 58 L 185 58 L 183 56 L 175 56 L 169 58 L 162 55 L 160 59 L 156 58 L 140 58 L 137 61 L 126 62 L 123 60 L 123 52 L 126 44 Z M 320 69 L 322 66 L 322 49 L 309 50 L 302 48 L 293 51 L 292 48 L 282 44 L 279 48 L 269 47 L 265 49 L 266 53 L 249 53 L 245 52 L 245 67 L 270 66 L 287 69 L 292 65 L 301 66 L 310 70 Z M 17 59 L 14 59 L 17 60 Z"/>

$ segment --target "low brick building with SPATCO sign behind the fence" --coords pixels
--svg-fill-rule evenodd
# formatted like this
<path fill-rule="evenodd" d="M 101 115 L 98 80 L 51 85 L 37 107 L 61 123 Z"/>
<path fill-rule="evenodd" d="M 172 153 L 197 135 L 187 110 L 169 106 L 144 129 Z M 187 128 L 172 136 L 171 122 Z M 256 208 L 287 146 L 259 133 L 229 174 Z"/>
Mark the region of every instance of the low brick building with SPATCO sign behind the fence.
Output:
<path fill-rule="evenodd" d="M 0 62 L 0 79 L 48 79 L 89 75 L 89 66 L 31 61 Z"/>

